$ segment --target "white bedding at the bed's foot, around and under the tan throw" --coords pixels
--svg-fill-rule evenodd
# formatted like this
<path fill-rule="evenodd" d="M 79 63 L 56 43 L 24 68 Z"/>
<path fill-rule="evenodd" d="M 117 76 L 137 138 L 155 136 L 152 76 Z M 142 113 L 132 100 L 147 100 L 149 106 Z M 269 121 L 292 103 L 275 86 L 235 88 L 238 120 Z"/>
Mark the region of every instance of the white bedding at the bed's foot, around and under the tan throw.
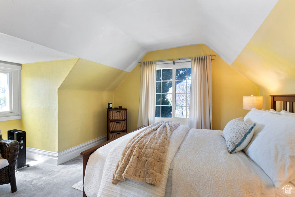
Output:
<path fill-rule="evenodd" d="M 111 183 L 112 175 L 114 169 L 119 161 L 122 151 L 125 148 L 129 139 L 131 139 L 137 132 L 130 133 L 125 135 L 115 143 L 109 143 L 108 147 L 104 146 L 96 152 L 94 152 L 88 160 L 86 171 L 85 171 L 85 180 L 84 180 L 84 189 L 87 196 L 164 196 L 165 187 L 168 178 L 168 172 L 170 169 L 170 164 L 176 154 L 181 142 L 189 131 L 189 127 L 179 126 L 175 129 L 170 138 L 170 145 L 167 152 L 167 158 L 163 173 L 163 178 L 159 187 L 150 185 L 148 183 L 143 183 L 134 180 L 127 180 L 126 182 L 118 183 L 113 185 Z M 114 141 L 113 141 L 114 142 Z M 102 153 L 104 152 L 104 153 Z M 105 154 L 107 152 L 108 154 Z M 104 159 L 105 158 L 105 159 Z M 105 162 L 103 161 L 105 160 Z M 104 166 L 103 171 L 99 169 L 97 171 L 98 165 Z M 99 167 L 101 168 L 101 167 Z M 93 175 L 95 173 L 96 175 Z M 102 173 L 102 175 L 98 175 Z M 100 179 L 101 180 L 98 180 Z M 98 184 L 100 183 L 100 184 Z M 98 184 L 98 185 L 97 185 Z M 99 188 L 99 190 L 98 190 Z"/>

